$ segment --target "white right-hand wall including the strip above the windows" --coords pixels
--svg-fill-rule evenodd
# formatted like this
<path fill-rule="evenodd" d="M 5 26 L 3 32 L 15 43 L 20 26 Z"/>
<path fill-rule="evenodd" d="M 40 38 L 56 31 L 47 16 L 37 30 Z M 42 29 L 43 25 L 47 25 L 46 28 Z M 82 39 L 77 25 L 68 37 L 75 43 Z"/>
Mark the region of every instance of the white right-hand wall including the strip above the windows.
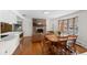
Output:
<path fill-rule="evenodd" d="M 74 18 L 74 17 L 78 17 L 78 39 L 77 41 L 80 42 L 80 44 L 85 47 L 87 47 L 87 11 L 78 11 L 65 17 L 59 18 L 62 19 L 69 19 L 69 18 Z"/>

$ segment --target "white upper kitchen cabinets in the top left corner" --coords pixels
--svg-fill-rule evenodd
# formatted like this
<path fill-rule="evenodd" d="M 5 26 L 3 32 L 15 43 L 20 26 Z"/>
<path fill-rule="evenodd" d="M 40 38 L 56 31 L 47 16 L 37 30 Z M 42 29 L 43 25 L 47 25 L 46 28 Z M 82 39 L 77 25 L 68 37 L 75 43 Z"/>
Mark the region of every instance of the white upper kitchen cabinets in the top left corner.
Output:
<path fill-rule="evenodd" d="M 17 23 L 17 15 L 11 10 L 0 10 L 0 22 Z"/>

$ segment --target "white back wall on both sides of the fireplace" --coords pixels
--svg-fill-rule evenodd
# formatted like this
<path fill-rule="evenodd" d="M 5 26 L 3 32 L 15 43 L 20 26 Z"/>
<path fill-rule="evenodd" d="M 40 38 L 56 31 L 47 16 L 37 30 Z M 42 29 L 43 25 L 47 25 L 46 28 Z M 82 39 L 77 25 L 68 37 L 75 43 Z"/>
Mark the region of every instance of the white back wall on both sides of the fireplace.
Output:
<path fill-rule="evenodd" d="M 32 18 L 23 21 L 22 29 L 23 29 L 24 36 L 32 36 L 32 34 L 33 34 L 32 24 L 33 24 Z M 53 24 L 54 24 L 54 26 L 53 26 Z M 56 30 L 56 25 L 57 25 L 56 21 L 54 21 L 53 19 L 46 19 L 46 31 Z"/>

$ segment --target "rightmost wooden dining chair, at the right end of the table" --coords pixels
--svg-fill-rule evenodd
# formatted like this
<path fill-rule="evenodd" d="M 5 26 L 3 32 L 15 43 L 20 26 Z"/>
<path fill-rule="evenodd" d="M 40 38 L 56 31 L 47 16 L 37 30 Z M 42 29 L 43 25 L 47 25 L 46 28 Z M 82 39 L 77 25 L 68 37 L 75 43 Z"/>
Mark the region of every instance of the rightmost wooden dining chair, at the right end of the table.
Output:
<path fill-rule="evenodd" d="M 68 35 L 68 48 L 70 50 L 70 53 L 76 53 L 76 40 L 77 40 L 77 35 Z"/>

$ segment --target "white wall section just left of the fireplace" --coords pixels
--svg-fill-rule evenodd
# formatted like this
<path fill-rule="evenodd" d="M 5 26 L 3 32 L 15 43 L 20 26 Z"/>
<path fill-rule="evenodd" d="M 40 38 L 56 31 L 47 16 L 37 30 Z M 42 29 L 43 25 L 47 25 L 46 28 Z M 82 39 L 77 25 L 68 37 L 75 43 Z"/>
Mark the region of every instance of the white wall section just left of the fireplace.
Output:
<path fill-rule="evenodd" d="M 22 29 L 24 36 L 32 36 L 32 19 L 23 20 Z"/>

